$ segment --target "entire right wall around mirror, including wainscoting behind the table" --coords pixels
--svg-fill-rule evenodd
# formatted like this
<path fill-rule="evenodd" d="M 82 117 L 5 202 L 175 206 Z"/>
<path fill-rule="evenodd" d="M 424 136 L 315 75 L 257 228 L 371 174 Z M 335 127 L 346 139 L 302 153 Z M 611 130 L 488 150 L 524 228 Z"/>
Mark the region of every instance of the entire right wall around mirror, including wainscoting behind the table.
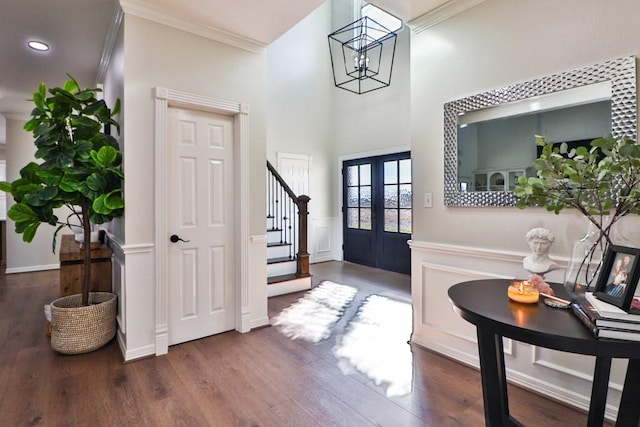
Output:
<path fill-rule="evenodd" d="M 509 84 L 638 54 L 640 14 L 634 0 L 486 0 L 466 12 L 413 33 L 411 140 L 414 159 L 412 294 L 414 340 L 477 365 L 474 328 L 451 311 L 447 289 L 485 277 L 522 277 L 533 227 L 556 236 L 552 258 L 566 261 L 586 221 L 529 208 L 457 208 L 443 205 L 443 104 Z M 596 31 L 603 28 L 603 31 Z M 615 30 L 606 30 L 615 28 Z M 417 165 L 420 165 L 417 167 Z M 424 192 L 433 208 L 420 208 Z M 637 218 L 628 218 L 637 229 Z M 631 227 L 627 227 L 631 229 Z M 639 242 L 640 243 L 640 242 Z M 562 272 L 550 280 L 562 281 Z M 506 298 L 506 295 L 505 295 Z M 585 407 L 593 359 L 507 342 L 509 378 Z M 615 415 L 622 380 L 616 365 L 607 414 Z"/>

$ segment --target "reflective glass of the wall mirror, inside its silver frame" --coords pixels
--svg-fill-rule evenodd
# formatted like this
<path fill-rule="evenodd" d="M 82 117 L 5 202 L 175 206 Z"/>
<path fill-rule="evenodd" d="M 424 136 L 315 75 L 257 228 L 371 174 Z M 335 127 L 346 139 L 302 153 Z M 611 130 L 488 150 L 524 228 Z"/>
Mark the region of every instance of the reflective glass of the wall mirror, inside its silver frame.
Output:
<path fill-rule="evenodd" d="M 591 86 L 587 86 L 591 92 L 582 92 L 588 99 L 564 96 L 566 106 L 555 106 L 551 102 L 555 100 L 552 94 L 527 101 L 533 105 L 524 112 L 518 111 L 519 105 L 505 104 L 505 109 L 513 107 L 514 110 L 513 115 L 510 113 L 507 117 L 490 117 L 491 111 L 485 110 L 479 111 L 485 114 L 461 115 L 458 118 L 460 191 L 513 191 L 518 176 L 535 176 L 532 165 L 539 153 L 534 135 L 542 135 L 547 141 L 588 146 L 593 139 L 610 134 L 610 82 L 605 82 L 602 99 L 593 96 L 598 89 Z M 571 90 L 559 94 L 567 95 L 564 92 Z M 505 145 L 509 149 L 505 149 Z"/>

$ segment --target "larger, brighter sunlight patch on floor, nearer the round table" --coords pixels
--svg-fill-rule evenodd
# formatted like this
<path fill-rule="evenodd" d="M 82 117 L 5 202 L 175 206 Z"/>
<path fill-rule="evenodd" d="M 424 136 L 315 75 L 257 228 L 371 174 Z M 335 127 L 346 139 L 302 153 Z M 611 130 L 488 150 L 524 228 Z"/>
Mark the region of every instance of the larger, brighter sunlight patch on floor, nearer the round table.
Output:
<path fill-rule="evenodd" d="M 385 387 L 386 395 L 411 392 L 413 354 L 411 304 L 380 295 L 367 297 L 333 351 L 345 374 L 353 369 Z"/>

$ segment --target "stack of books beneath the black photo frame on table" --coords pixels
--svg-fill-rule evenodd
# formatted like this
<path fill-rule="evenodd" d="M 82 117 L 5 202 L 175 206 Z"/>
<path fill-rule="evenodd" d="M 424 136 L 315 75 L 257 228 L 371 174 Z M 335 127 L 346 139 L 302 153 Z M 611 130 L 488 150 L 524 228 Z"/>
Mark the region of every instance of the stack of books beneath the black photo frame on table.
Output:
<path fill-rule="evenodd" d="M 602 301 L 586 292 L 571 303 L 573 313 L 597 338 L 640 341 L 640 315 Z"/>

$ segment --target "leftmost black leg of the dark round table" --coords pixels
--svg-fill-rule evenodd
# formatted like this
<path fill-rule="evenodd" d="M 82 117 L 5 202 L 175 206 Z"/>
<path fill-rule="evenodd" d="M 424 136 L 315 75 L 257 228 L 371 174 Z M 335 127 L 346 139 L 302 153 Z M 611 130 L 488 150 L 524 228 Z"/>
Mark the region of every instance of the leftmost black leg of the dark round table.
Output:
<path fill-rule="evenodd" d="M 477 334 L 485 425 L 518 426 L 520 423 L 509 415 L 502 337 L 481 328 L 477 328 Z"/>

